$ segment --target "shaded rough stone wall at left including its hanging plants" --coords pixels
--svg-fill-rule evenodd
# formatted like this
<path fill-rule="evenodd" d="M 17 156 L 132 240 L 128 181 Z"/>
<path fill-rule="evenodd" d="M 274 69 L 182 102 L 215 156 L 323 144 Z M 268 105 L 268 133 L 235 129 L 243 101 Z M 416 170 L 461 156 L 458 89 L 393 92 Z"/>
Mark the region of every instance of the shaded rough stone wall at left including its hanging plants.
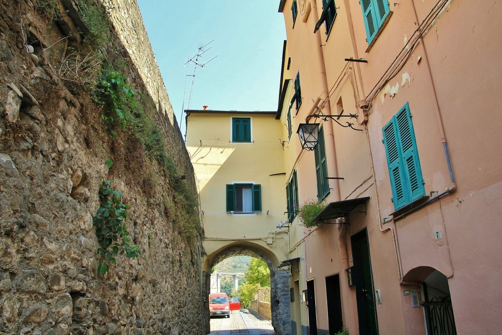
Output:
<path fill-rule="evenodd" d="M 0 333 L 205 333 L 193 170 L 147 92 L 92 0 L 0 0 Z"/>

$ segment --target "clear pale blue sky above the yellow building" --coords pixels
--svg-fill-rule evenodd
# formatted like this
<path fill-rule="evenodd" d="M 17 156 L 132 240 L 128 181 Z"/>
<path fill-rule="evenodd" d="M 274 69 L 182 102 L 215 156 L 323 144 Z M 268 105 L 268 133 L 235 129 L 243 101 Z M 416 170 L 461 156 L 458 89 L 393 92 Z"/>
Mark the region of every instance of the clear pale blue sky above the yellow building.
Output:
<path fill-rule="evenodd" d="M 284 19 L 279 0 L 138 0 L 150 43 L 178 123 L 187 75 L 197 48 L 214 40 L 199 59 L 190 109 L 277 110 Z M 207 48 L 206 48 L 207 49 Z M 192 77 L 188 77 L 184 109 Z M 185 129 L 183 113 L 182 134 Z"/>

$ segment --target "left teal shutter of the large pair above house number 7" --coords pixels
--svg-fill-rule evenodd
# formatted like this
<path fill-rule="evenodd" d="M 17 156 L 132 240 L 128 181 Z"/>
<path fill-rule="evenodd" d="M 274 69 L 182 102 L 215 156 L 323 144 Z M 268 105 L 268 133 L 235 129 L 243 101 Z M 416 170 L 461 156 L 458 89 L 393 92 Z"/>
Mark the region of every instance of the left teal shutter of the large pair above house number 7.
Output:
<path fill-rule="evenodd" d="M 395 130 L 394 118 L 384 127 L 384 144 L 387 154 L 387 164 L 389 167 L 389 176 L 391 178 L 392 202 L 394 208 L 400 208 L 406 204 L 403 188 L 403 175 L 400 163 L 400 154 L 398 148 L 397 134 Z"/>

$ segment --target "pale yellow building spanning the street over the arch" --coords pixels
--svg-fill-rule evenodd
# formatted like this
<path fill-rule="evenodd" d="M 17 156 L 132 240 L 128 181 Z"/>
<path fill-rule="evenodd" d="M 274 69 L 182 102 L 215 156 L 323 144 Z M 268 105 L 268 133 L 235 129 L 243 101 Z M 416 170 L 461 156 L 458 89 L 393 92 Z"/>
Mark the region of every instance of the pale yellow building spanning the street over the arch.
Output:
<path fill-rule="evenodd" d="M 271 270 L 273 324 L 278 333 L 289 333 L 289 273 L 277 271 L 290 248 L 283 228 L 285 142 L 277 112 L 186 113 L 187 149 L 198 181 L 204 229 L 207 292 L 210 271 L 223 259 L 260 258 Z"/>

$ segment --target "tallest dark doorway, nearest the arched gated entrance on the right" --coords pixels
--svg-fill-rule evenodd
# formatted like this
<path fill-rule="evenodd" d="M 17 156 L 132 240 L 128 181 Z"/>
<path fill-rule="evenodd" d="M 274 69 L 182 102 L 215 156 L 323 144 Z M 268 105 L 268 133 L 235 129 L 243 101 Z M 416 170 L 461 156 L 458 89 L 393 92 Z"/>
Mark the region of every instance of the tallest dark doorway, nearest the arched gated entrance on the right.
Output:
<path fill-rule="evenodd" d="M 373 278 L 369 243 L 366 229 L 353 235 L 352 257 L 354 262 L 354 283 L 357 299 L 357 316 L 359 318 L 359 333 L 378 335 L 378 322 L 373 295 Z"/>

